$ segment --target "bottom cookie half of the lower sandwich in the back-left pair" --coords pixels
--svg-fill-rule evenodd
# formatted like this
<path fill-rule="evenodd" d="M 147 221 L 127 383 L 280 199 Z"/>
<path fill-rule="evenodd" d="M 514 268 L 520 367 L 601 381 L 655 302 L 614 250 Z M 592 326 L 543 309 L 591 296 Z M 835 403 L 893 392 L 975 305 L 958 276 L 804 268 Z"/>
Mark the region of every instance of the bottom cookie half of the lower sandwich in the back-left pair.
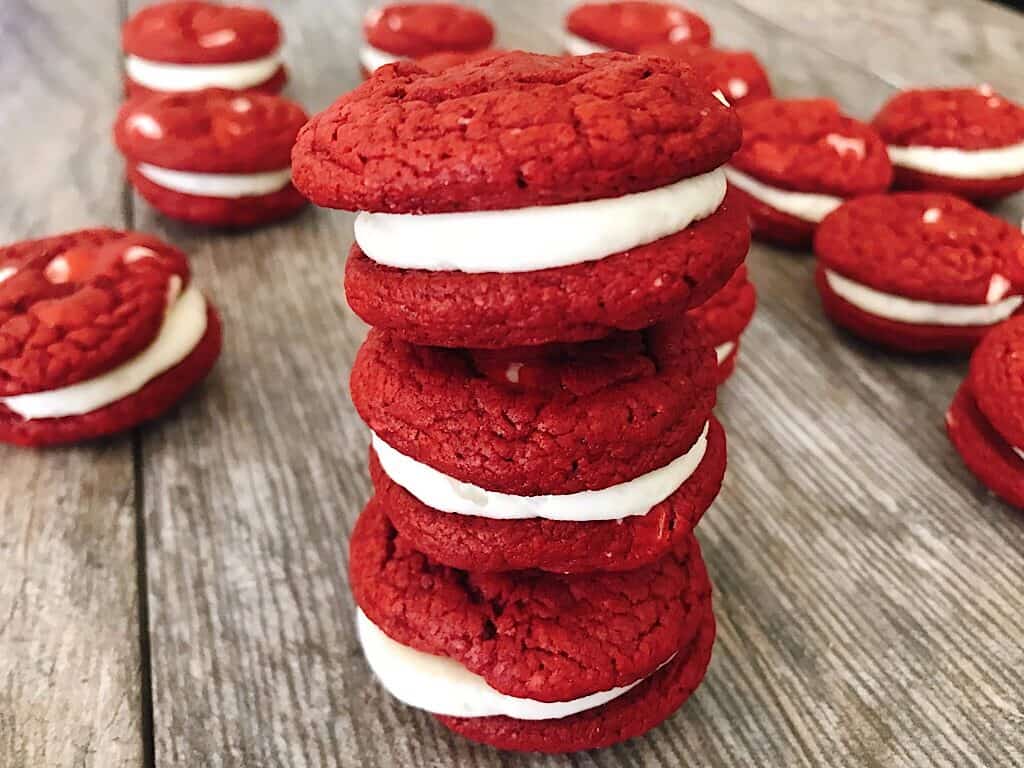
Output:
<path fill-rule="evenodd" d="M 292 184 L 270 195 L 256 198 L 205 198 L 184 195 L 155 184 L 134 168 L 128 178 L 145 201 L 165 216 L 189 224 L 231 229 L 268 224 L 287 218 L 306 205 Z"/>

